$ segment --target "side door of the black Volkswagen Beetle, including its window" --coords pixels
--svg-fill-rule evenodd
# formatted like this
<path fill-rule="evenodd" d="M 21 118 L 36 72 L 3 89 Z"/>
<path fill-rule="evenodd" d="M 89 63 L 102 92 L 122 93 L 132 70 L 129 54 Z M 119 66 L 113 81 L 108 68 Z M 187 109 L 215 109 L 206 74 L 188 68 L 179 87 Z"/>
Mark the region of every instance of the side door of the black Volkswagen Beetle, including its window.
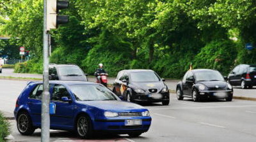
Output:
<path fill-rule="evenodd" d="M 186 76 L 186 81 L 184 83 L 183 93 L 185 95 L 191 95 L 192 92 L 192 86 L 194 85 L 194 76 L 192 71 L 188 71 L 188 74 Z"/>

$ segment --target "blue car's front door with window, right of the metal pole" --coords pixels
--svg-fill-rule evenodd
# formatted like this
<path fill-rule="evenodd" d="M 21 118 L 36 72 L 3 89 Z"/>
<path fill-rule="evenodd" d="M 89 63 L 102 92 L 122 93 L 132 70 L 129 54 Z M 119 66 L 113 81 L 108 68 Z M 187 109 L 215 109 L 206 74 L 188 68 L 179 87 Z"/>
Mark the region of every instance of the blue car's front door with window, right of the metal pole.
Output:
<path fill-rule="evenodd" d="M 51 115 L 51 127 L 54 128 L 73 126 L 74 102 L 64 102 L 62 97 L 72 99 L 70 92 L 65 86 L 54 84 L 51 97 L 51 103 L 56 104 L 55 114 Z"/>

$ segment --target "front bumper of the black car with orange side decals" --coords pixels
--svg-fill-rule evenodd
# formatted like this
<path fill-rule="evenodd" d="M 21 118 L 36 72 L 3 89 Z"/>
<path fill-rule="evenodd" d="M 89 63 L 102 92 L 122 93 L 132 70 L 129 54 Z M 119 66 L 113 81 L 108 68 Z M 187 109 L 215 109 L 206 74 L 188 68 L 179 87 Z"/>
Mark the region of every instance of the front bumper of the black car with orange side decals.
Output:
<path fill-rule="evenodd" d="M 146 94 L 133 94 L 133 101 L 136 102 L 162 102 L 170 100 L 170 93 L 146 93 Z"/>

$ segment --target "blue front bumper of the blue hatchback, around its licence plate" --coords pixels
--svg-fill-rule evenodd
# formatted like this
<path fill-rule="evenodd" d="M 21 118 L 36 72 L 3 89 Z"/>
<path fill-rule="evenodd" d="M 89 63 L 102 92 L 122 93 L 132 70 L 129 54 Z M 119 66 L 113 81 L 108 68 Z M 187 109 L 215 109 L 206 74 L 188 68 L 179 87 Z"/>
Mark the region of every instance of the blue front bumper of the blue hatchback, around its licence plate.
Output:
<path fill-rule="evenodd" d="M 141 119 L 142 125 L 126 126 L 125 120 Z M 105 131 L 107 133 L 127 134 L 131 132 L 144 133 L 149 130 L 151 117 L 117 117 L 94 120 L 93 126 L 95 131 Z"/>

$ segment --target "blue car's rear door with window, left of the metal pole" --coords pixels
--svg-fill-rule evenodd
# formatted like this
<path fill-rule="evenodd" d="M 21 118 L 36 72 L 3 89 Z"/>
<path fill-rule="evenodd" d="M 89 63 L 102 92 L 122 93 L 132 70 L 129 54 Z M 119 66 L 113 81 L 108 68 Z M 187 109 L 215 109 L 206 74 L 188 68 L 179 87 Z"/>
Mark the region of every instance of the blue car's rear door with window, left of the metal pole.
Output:
<path fill-rule="evenodd" d="M 29 94 L 28 107 L 30 110 L 33 125 L 40 126 L 41 124 L 41 96 L 43 92 L 43 84 L 35 85 L 32 92 Z"/>

